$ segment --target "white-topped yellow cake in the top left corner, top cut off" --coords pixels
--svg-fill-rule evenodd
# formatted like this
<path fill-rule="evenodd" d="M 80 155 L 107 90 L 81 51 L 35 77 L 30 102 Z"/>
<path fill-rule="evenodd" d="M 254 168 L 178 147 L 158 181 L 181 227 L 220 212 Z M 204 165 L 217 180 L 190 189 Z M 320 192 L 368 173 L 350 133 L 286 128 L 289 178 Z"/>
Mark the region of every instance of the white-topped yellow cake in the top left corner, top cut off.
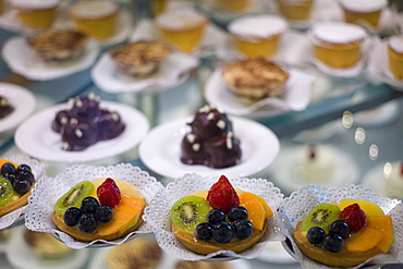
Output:
<path fill-rule="evenodd" d="M 12 0 L 19 21 L 26 27 L 45 29 L 52 26 L 57 17 L 59 0 Z"/>

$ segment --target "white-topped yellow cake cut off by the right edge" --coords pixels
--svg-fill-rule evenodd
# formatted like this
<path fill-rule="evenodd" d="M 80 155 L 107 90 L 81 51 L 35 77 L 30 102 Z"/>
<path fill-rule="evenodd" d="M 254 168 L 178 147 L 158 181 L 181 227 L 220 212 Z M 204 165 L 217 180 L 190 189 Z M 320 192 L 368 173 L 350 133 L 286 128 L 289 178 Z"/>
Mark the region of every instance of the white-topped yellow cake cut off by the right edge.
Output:
<path fill-rule="evenodd" d="M 403 78 L 403 36 L 388 39 L 389 71 L 395 78 Z"/>

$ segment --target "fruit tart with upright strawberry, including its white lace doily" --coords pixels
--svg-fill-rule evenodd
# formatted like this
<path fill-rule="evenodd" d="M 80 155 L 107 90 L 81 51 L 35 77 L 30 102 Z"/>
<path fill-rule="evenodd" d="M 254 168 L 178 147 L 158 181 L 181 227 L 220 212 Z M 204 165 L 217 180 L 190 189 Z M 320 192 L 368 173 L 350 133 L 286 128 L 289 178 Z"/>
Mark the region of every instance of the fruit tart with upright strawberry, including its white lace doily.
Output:
<path fill-rule="evenodd" d="M 277 236 L 273 211 L 282 195 L 266 180 L 186 174 L 169 183 L 167 194 L 169 197 L 156 198 L 160 205 L 157 201 L 147 208 L 145 219 L 154 227 L 162 249 L 176 258 L 253 258 L 269 237 Z M 163 205 L 166 198 L 169 203 Z M 166 220 L 161 221 L 159 206 L 166 207 Z"/>

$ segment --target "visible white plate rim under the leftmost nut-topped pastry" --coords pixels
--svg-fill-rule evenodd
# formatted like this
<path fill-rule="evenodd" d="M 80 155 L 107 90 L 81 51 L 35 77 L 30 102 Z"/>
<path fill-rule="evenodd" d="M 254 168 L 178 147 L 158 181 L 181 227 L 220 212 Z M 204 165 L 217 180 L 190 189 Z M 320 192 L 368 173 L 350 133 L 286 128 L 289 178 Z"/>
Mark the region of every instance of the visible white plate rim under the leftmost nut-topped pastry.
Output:
<path fill-rule="evenodd" d="M 5 41 L 2 56 L 9 68 L 28 80 L 49 81 L 88 69 L 99 53 L 99 46 L 88 40 L 83 56 L 65 64 L 49 64 L 39 59 L 26 37 L 11 37 Z"/>

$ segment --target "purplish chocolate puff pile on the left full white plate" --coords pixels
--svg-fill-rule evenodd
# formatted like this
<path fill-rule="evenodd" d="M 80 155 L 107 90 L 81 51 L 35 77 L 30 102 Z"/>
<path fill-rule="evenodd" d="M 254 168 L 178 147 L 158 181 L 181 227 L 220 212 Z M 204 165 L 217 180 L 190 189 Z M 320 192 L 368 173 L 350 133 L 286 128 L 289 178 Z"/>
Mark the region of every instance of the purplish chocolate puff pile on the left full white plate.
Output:
<path fill-rule="evenodd" d="M 118 137 L 124 123 L 115 111 L 100 108 L 100 99 L 94 94 L 70 101 L 70 108 L 57 112 L 51 127 L 61 134 L 61 148 L 80 151 L 96 144 Z"/>

